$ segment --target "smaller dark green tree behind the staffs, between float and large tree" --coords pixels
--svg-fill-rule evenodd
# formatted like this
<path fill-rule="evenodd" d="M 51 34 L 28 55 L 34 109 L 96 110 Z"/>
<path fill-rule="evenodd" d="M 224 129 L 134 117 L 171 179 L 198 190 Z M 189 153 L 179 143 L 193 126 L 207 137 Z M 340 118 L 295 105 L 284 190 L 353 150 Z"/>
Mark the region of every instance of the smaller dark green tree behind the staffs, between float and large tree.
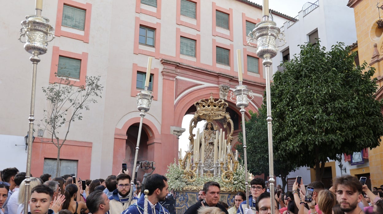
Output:
<path fill-rule="evenodd" d="M 246 154 L 247 168 L 254 175 L 264 174 L 265 180 L 269 175 L 268 167 L 268 136 L 267 136 L 267 113 L 266 107 L 258 109 L 258 113 L 250 111 L 250 120 L 245 121 L 246 127 Z M 243 143 L 242 134 L 239 134 L 239 141 Z M 243 157 L 243 145 L 237 145 L 241 157 Z M 293 158 L 288 154 L 278 153 L 279 147 L 273 144 L 274 150 L 274 175 L 282 179 L 282 189 L 287 184 L 287 175 L 297 169 L 291 161 Z"/>

